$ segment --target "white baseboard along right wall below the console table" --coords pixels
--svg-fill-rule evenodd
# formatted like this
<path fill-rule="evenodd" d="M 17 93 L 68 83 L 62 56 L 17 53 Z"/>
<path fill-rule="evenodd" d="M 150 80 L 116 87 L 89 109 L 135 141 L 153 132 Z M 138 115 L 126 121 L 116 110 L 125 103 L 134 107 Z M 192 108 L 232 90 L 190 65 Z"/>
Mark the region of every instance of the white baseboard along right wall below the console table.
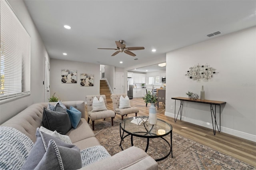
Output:
<path fill-rule="evenodd" d="M 165 112 L 164 115 L 174 118 L 173 113 Z M 180 115 L 178 116 L 178 120 L 180 120 Z M 202 126 L 202 127 L 212 129 L 212 123 L 206 123 L 206 122 L 203 122 L 203 121 L 198 121 L 196 119 L 191 119 L 191 118 L 184 117 L 184 116 L 182 116 L 182 121 L 193 123 L 195 125 L 199 125 L 199 126 Z M 219 127 L 219 129 L 220 129 L 220 127 Z M 244 138 L 244 139 L 256 142 L 256 135 L 253 135 L 253 134 L 249 134 L 249 133 L 246 133 L 246 132 L 241 132 L 241 131 L 234 130 L 234 129 L 231 129 L 231 128 L 226 128 L 226 127 L 221 127 L 220 131 L 224 132 L 224 133 L 227 133 L 227 134 L 231 134 L 233 136 L 237 136 L 237 137 L 240 137 L 240 138 Z M 218 130 L 216 130 L 216 133 L 217 132 L 218 132 Z"/>

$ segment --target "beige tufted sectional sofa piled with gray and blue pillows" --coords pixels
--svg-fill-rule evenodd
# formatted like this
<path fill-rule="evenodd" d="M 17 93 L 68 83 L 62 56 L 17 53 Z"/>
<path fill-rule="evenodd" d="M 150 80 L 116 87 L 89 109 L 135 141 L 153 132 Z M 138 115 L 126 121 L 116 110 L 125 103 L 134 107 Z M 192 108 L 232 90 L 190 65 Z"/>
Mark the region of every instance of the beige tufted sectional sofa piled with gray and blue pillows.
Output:
<path fill-rule="evenodd" d="M 80 150 L 84 150 L 86 148 L 100 145 L 97 138 L 94 136 L 94 132 L 88 125 L 85 117 L 85 107 L 84 101 L 68 101 L 62 102 L 67 108 L 70 106 L 75 107 L 82 113 L 82 118 L 78 127 L 76 129 L 71 128 L 70 131 L 66 134 L 70 137 L 72 143 Z M 51 103 L 55 105 L 56 103 Z M 27 107 L 24 111 L 20 112 L 18 115 L 9 119 L 5 123 L 0 126 L 4 127 L 12 127 L 16 128 L 26 136 L 28 136 L 33 142 L 36 141 L 36 128 L 42 126 L 42 115 L 43 108 L 47 107 L 48 103 L 36 103 L 29 107 Z M 2 149 L 2 148 L 0 148 Z M 110 156 L 103 160 L 99 160 L 98 162 L 94 162 L 87 166 L 81 168 L 83 170 L 157 170 L 158 164 L 157 162 L 146 152 L 132 146 L 126 150 L 123 150 L 114 156 Z"/>

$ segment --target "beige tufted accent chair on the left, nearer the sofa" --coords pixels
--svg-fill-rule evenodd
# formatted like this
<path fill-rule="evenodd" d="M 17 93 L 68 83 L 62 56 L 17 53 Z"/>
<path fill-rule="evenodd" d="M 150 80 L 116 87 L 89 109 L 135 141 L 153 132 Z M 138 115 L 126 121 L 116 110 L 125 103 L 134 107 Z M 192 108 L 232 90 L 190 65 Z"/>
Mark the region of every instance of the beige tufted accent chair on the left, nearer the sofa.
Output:
<path fill-rule="evenodd" d="M 95 96 L 98 99 L 100 99 L 100 96 L 103 97 L 107 110 L 92 112 L 92 101 Z M 109 117 L 111 117 L 112 126 L 113 126 L 113 119 L 116 116 L 116 114 L 114 113 L 114 111 L 108 110 L 105 95 L 88 95 L 88 96 L 86 96 L 86 102 L 87 102 L 87 113 L 88 113 L 88 121 L 87 122 L 89 123 L 90 119 L 92 120 L 92 130 L 94 130 L 94 121 L 95 120 L 99 120 L 99 119 L 105 120 L 106 118 L 109 118 Z"/>

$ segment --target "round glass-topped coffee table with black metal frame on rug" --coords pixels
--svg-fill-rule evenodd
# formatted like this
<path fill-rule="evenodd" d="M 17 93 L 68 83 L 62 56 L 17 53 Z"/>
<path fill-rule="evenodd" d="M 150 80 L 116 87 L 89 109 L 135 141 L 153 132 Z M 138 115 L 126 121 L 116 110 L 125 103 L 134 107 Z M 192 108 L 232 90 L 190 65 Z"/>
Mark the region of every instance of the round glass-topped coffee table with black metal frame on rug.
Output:
<path fill-rule="evenodd" d="M 143 120 L 143 121 L 142 121 Z M 124 135 L 124 132 L 127 134 Z M 170 134 L 170 142 L 163 138 Z M 156 125 L 149 124 L 149 119 L 147 116 L 141 117 L 130 117 L 122 120 L 120 122 L 120 144 L 122 150 L 122 141 L 127 136 L 131 136 L 131 145 L 133 146 L 133 136 L 137 136 L 140 138 L 147 138 L 147 145 L 145 152 L 148 151 L 149 139 L 150 138 L 161 138 L 163 139 L 170 147 L 170 152 L 162 158 L 156 159 L 156 161 L 163 160 L 167 158 L 170 153 L 172 153 L 172 125 L 163 121 L 161 119 L 157 119 Z"/>

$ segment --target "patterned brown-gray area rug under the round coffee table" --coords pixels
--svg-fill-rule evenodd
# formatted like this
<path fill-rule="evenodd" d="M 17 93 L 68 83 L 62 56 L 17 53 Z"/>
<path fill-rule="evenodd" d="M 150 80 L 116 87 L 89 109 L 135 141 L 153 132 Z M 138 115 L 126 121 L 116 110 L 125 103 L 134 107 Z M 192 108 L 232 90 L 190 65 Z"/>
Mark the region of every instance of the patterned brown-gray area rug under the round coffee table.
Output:
<path fill-rule="evenodd" d="M 95 137 L 108 150 L 111 156 L 122 151 L 120 148 L 120 120 L 101 121 L 95 124 Z M 208 146 L 204 146 L 172 133 L 173 158 L 171 154 L 164 160 L 158 161 L 159 170 L 256 170 L 256 167 L 236 158 L 222 154 Z M 170 135 L 165 137 L 170 140 Z M 130 136 L 122 142 L 124 149 L 131 147 Z M 146 148 L 146 139 L 133 137 L 134 146 L 143 150 Z M 170 151 L 169 145 L 160 138 L 150 139 L 147 153 L 154 159 L 164 157 Z"/>

